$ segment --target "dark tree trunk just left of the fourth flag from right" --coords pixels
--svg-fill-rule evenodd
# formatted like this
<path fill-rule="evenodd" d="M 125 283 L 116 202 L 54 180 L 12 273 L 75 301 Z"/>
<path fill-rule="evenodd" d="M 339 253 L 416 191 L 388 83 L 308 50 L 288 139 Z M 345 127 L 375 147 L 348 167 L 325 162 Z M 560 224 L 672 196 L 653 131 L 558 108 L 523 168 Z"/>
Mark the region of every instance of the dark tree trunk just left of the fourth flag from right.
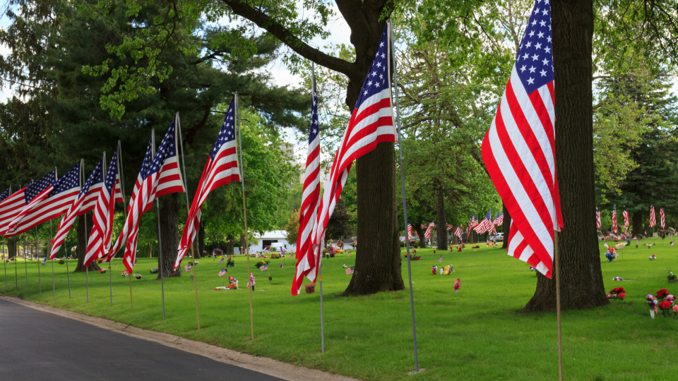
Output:
<path fill-rule="evenodd" d="M 181 277 L 182 267 L 173 272 L 174 261 L 177 260 L 177 248 L 179 247 L 179 226 L 177 224 L 177 213 L 179 212 L 179 195 L 170 193 L 160 198 L 160 240 L 162 243 L 162 253 L 159 251 L 157 257 L 157 268 L 160 269 L 160 260 L 162 260 L 162 275 L 165 278 Z M 160 279 L 160 272 L 157 274 Z"/>

